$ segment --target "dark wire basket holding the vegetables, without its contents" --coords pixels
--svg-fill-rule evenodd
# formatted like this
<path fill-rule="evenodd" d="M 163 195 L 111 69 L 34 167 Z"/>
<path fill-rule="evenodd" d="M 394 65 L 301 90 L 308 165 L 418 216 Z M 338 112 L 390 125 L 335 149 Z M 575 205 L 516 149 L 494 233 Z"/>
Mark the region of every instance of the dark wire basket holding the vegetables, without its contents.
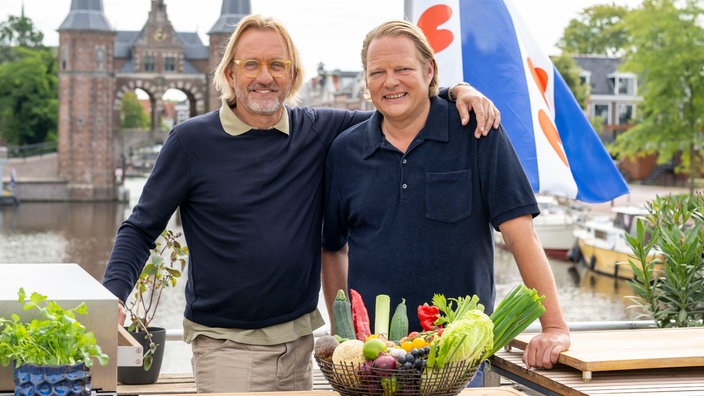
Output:
<path fill-rule="evenodd" d="M 380 369 L 354 364 L 333 364 L 315 358 L 320 371 L 342 396 L 454 396 L 474 378 L 479 366 L 453 362 L 441 369 Z"/>

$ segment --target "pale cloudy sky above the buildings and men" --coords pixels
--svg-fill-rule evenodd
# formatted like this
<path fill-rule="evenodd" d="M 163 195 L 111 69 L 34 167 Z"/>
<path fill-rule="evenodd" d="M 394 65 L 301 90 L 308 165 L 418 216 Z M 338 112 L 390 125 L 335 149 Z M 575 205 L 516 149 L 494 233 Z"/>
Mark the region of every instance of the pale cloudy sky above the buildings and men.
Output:
<path fill-rule="evenodd" d="M 511 0 L 534 39 L 548 55 L 562 32 L 582 9 L 614 1 L 634 7 L 639 0 Z M 206 32 L 218 16 L 222 0 L 165 0 L 166 11 L 179 31 Z M 71 8 L 71 0 L 0 0 L 0 20 L 25 16 L 45 35 L 45 44 L 57 45 L 56 29 Z M 281 20 L 301 51 L 308 74 L 324 62 L 326 69 L 359 70 L 359 49 L 367 31 L 388 19 L 403 18 L 404 0 L 251 0 L 252 12 Z M 352 7 L 351 5 L 354 5 Z M 103 0 L 105 15 L 116 30 L 139 30 L 147 20 L 151 0 Z"/>

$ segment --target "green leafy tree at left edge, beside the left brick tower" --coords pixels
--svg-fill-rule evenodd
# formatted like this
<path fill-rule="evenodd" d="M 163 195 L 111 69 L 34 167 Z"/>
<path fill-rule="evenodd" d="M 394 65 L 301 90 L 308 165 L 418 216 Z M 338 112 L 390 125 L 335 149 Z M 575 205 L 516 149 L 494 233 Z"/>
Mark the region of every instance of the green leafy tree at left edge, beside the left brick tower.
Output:
<path fill-rule="evenodd" d="M 12 48 L 0 64 L 0 139 L 23 145 L 56 140 L 58 74 L 47 49 Z"/>

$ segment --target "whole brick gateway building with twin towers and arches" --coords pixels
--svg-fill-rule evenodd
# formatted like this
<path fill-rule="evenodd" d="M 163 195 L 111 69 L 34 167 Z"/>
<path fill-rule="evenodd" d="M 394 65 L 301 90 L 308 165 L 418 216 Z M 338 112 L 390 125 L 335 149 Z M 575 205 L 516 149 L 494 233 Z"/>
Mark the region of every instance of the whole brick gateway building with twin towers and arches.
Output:
<path fill-rule="evenodd" d="M 161 98 L 169 89 L 186 95 L 190 116 L 220 105 L 212 71 L 236 24 L 251 13 L 250 1 L 223 0 L 208 45 L 195 32 L 175 31 L 164 3 L 151 0 L 141 30 L 116 31 L 103 13 L 102 0 L 71 1 L 58 29 L 59 177 L 68 182 L 70 200 L 117 198 L 119 152 L 114 146 L 125 92 L 140 88 L 149 94 L 152 128 L 161 125 Z"/>

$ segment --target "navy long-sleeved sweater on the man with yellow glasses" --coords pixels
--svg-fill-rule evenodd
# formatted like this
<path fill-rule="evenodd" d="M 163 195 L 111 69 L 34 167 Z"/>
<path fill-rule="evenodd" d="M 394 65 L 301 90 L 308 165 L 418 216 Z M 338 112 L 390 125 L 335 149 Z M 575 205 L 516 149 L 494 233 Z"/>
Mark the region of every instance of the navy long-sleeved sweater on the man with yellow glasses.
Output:
<path fill-rule="evenodd" d="M 254 329 L 317 307 L 325 156 L 369 112 L 291 108 L 290 134 L 227 134 L 218 111 L 176 126 L 115 240 L 103 284 L 126 300 L 179 208 L 190 251 L 185 317 Z"/>

